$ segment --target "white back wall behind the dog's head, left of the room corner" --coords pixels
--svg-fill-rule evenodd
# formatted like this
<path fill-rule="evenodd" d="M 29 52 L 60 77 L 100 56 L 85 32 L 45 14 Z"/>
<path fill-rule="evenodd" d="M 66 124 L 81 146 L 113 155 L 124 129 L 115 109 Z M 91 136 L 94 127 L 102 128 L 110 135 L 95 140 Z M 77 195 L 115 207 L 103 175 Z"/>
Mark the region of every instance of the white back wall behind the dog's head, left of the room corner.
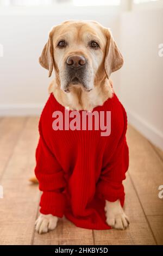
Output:
<path fill-rule="evenodd" d="M 118 14 L 118 7 L 1 9 L 0 115 L 40 113 L 52 78 L 38 59 L 53 25 L 68 19 L 97 20 L 110 27 L 118 40 Z M 118 83 L 118 74 L 114 80 Z"/>

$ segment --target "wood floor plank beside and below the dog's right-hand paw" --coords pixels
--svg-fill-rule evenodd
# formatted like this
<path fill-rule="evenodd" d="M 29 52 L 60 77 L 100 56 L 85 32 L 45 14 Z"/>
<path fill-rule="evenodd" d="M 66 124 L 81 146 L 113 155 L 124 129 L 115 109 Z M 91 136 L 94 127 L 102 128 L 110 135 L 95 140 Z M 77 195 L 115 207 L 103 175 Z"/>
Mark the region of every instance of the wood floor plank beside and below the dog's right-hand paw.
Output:
<path fill-rule="evenodd" d="M 126 230 L 94 230 L 95 245 L 155 245 L 152 231 L 128 174 L 124 187 L 126 191 L 124 209 L 130 225 Z"/>

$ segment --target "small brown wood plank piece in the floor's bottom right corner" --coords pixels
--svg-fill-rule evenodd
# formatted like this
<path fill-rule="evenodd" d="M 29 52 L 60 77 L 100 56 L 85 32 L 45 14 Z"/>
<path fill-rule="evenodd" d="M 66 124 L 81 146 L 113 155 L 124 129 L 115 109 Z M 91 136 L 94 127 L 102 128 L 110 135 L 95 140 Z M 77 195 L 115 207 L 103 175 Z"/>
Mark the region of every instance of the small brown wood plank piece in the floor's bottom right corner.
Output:
<path fill-rule="evenodd" d="M 158 245 L 163 245 L 163 215 L 147 216 Z"/>

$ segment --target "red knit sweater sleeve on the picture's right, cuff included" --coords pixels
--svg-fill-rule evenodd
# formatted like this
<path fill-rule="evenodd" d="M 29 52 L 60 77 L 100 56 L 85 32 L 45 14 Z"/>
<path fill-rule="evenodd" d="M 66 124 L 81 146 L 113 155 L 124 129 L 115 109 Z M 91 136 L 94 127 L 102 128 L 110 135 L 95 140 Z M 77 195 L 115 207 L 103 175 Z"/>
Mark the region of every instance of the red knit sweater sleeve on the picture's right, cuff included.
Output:
<path fill-rule="evenodd" d="M 126 115 L 126 113 L 124 112 Z M 126 141 L 127 119 L 124 115 L 124 130 L 116 147 L 106 148 L 104 166 L 97 182 L 96 192 L 99 198 L 110 202 L 120 199 L 124 203 L 124 187 L 122 181 L 126 179 L 129 166 L 129 150 Z M 111 148 L 111 150 L 110 150 Z"/>

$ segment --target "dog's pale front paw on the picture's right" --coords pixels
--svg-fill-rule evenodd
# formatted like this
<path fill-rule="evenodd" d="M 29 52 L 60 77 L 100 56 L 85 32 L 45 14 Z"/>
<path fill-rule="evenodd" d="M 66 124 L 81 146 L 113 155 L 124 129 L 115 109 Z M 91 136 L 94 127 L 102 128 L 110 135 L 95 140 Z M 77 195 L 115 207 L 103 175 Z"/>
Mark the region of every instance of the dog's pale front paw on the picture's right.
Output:
<path fill-rule="evenodd" d="M 126 229 L 129 225 L 129 220 L 122 209 L 120 200 L 116 202 L 105 200 L 105 202 L 106 223 L 112 228 Z"/>

